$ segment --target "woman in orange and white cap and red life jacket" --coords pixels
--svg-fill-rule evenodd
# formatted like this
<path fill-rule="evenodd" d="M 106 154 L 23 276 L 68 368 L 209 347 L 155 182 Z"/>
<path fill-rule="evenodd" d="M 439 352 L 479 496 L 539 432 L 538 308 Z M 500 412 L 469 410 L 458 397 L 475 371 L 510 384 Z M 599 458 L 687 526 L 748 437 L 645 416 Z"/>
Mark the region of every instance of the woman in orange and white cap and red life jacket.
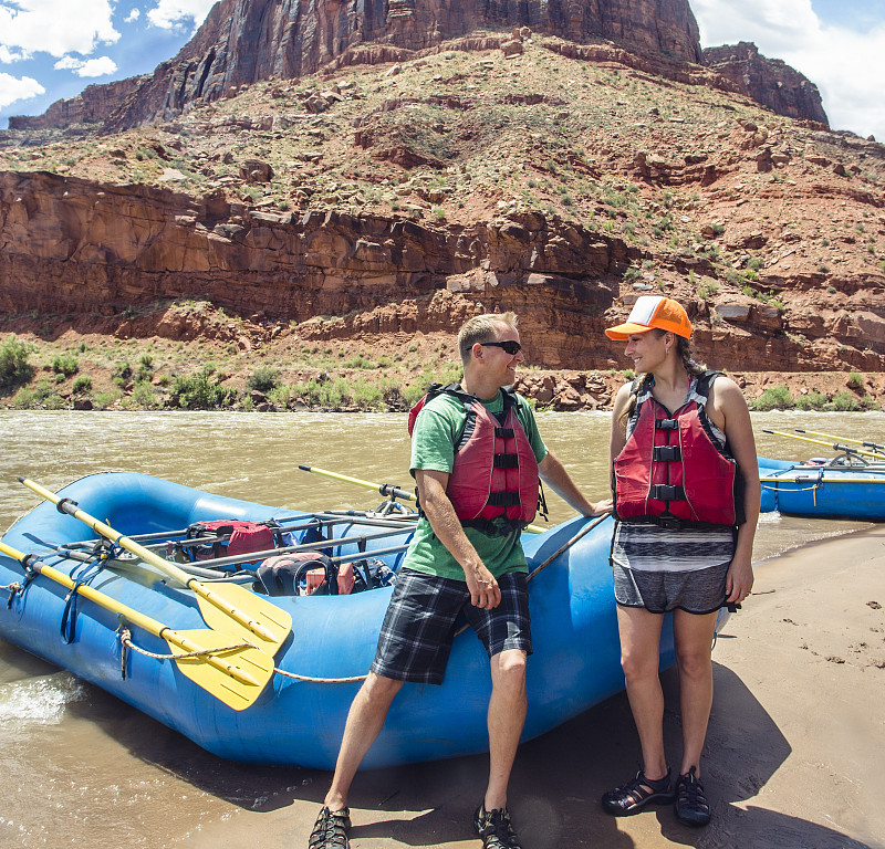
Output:
<path fill-rule="evenodd" d="M 690 826 L 710 821 L 700 755 L 712 706 L 716 616 L 753 585 L 760 483 L 747 403 L 737 385 L 691 359 L 691 323 L 668 297 L 637 298 L 625 324 L 637 373 L 615 397 L 612 541 L 621 660 L 643 768 L 602 797 L 613 816 L 675 801 Z M 660 627 L 673 611 L 683 758 L 675 784 L 664 753 Z"/>

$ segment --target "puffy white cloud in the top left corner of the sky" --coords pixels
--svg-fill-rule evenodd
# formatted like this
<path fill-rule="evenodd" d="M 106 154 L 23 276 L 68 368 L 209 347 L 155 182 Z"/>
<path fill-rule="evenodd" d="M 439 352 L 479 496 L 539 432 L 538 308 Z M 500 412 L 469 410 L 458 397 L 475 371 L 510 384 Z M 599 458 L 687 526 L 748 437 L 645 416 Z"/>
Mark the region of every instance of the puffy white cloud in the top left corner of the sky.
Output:
<path fill-rule="evenodd" d="M 0 0 L 0 45 L 85 55 L 119 38 L 112 12 L 111 0 Z"/>

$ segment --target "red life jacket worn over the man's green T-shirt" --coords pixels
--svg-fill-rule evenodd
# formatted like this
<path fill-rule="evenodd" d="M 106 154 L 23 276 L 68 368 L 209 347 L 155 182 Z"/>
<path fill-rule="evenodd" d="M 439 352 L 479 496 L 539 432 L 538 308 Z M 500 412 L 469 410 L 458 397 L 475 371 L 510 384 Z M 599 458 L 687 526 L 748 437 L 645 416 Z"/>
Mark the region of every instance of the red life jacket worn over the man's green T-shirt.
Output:
<path fill-rule="evenodd" d="M 506 516 L 513 528 L 528 525 L 538 511 L 538 460 L 517 416 L 517 395 L 503 389 L 503 411 L 496 416 L 459 386 L 434 384 L 409 412 L 409 434 L 424 405 L 441 392 L 467 410 L 455 444 L 455 462 L 446 494 L 461 524 L 491 530 L 491 520 Z"/>

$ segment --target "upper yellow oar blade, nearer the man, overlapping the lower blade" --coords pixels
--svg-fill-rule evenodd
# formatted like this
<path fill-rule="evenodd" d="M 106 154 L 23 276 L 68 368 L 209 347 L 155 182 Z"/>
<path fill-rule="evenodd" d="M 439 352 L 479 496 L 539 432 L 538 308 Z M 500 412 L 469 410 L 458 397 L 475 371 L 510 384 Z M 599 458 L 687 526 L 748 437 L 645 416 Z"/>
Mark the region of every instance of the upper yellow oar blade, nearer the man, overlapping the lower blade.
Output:
<path fill-rule="evenodd" d="M 201 584 L 200 589 L 212 594 L 211 600 L 196 587 L 191 586 L 191 589 L 197 593 L 197 604 L 206 625 L 238 637 L 242 642 L 251 642 L 268 654 L 275 654 L 292 630 L 292 617 L 285 610 L 239 584 Z M 238 610 L 240 616 L 232 618 L 230 609 Z M 260 628 L 250 628 L 246 621 Z"/>

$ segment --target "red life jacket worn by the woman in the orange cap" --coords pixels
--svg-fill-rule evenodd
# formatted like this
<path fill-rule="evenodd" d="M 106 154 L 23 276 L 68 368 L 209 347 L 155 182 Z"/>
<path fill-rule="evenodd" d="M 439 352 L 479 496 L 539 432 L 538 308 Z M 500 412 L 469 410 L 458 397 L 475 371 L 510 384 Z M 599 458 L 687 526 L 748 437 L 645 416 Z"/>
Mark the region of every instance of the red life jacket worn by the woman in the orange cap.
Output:
<path fill-rule="evenodd" d="M 746 521 L 743 479 L 706 412 L 720 374 L 698 376 L 691 397 L 673 415 L 652 396 L 647 378 L 634 385 L 633 430 L 612 470 L 618 520 L 673 528 Z"/>

